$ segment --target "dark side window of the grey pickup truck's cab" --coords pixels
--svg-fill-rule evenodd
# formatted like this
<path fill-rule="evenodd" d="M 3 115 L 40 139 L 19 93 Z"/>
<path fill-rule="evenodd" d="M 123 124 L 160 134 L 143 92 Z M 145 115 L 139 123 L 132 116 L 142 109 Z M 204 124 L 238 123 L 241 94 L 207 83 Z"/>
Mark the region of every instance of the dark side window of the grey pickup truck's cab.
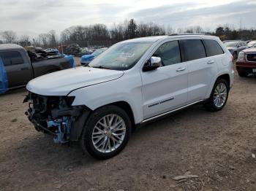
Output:
<path fill-rule="evenodd" d="M 24 63 L 23 58 L 18 51 L 0 52 L 0 57 L 4 62 L 4 66 Z"/>

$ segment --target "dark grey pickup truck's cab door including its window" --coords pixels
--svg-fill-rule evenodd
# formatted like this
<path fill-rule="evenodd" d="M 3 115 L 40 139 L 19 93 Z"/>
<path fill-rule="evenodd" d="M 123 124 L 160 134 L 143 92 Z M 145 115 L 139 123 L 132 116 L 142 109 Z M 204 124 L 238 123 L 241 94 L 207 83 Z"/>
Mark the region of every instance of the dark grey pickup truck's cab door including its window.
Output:
<path fill-rule="evenodd" d="M 1 51 L 9 87 L 26 85 L 33 78 L 30 62 L 21 50 Z"/>

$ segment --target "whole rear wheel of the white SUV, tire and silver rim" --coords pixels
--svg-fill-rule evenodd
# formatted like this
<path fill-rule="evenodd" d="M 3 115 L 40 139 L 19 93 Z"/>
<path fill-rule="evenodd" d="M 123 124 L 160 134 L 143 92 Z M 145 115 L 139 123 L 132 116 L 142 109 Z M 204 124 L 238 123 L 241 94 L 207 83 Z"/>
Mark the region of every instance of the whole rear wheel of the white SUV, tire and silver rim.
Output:
<path fill-rule="evenodd" d="M 214 88 L 211 92 L 210 98 L 206 101 L 206 109 L 211 112 L 218 112 L 223 109 L 227 103 L 229 93 L 229 86 L 225 79 L 217 79 Z"/>

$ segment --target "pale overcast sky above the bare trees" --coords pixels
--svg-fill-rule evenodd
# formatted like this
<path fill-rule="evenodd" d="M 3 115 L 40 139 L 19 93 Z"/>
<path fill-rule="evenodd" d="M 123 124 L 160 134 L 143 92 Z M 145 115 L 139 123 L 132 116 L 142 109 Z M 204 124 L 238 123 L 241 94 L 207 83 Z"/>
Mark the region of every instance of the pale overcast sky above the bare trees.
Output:
<path fill-rule="evenodd" d="M 256 28 L 256 0 L 0 0 L 0 31 L 35 36 L 69 26 L 113 23 L 134 18 L 172 28 L 225 23 Z"/>

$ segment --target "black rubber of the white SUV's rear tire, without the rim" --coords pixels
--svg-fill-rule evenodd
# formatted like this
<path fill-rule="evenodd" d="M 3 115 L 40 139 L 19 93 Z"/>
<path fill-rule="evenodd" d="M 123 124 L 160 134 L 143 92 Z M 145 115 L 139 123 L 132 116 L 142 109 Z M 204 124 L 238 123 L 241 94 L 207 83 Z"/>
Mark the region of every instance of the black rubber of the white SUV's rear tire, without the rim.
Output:
<path fill-rule="evenodd" d="M 216 106 L 216 104 L 214 104 L 214 91 L 217 88 L 217 86 L 222 83 L 225 85 L 225 87 L 227 88 L 227 95 L 226 95 L 226 99 L 225 102 L 222 106 Z M 220 110 L 223 109 L 223 107 L 225 106 L 225 104 L 227 104 L 227 98 L 228 98 L 228 93 L 229 93 L 230 87 L 227 83 L 227 80 L 219 78 L 217 79 L 217 81 L 214 84 L 214 88 L 211 91 L 211 96 L 210 98 L 208 98 L 208 100 L 206 101 L 206 103 L 204 104 L 204 106 L 206 107 L 206 109 L 210 112 L 218 112 Z"/>

